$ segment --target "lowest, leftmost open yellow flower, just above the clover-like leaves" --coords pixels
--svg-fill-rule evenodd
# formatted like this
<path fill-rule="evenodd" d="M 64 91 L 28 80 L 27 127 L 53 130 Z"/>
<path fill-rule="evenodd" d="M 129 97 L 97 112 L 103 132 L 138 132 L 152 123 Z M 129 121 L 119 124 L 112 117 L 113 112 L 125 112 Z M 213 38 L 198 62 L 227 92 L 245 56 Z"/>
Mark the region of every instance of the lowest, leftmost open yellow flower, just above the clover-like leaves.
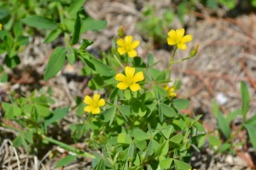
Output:
<path fill-rule="evenodd" d="M 84 97 L 84 103 L 87 105 L 84 107 L 84 111 L 99 114 L 101 112 L 100 107 L 105 105 L 105 100 L 100 98 L 100 94 L 94 94 L 93 99 L 89 95 L 86 95 Z"/>

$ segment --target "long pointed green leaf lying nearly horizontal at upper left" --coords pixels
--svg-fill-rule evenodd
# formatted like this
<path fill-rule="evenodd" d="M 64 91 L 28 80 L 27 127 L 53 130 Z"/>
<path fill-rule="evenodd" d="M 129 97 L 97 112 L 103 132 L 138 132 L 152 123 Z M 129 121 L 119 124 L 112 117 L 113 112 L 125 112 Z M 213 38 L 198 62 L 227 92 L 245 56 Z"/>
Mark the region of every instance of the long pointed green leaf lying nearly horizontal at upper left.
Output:
<path fill-rule="evenodd" d="M 38 29 L 55 29 L 58 27 L 54 20 L 49 20 L 43 16 L 30 15 L 22 19 L 21 22 L 27 26 L 36 27 Z"/>

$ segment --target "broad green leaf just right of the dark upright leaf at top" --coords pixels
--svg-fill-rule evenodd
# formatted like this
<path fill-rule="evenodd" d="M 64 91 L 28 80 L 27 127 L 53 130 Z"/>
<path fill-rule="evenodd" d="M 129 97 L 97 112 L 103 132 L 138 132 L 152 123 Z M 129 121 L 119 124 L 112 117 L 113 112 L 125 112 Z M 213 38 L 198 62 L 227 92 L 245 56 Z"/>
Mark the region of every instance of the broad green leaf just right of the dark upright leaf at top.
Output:
<path fill-rule="evenodd" d="M 100 31 L 107 26 L 106 20 L 93 20 L 88 17 L 82 22 L 81 32 L 85 31 Z"/>

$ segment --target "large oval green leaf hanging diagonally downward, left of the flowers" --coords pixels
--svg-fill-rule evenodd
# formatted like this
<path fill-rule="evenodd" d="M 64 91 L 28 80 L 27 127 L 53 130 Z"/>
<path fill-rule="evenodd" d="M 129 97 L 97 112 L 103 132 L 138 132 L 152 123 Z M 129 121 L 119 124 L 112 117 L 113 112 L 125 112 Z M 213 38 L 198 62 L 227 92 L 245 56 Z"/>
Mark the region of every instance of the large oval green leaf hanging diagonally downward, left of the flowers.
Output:
<path fill-rule="evenodd" d="M 50 55 L 49 61 L 44 72 L 44 81 L 54 77 L 65 64 L 67 49 L 62 47 L 55 48 L 53 54 Z"/>

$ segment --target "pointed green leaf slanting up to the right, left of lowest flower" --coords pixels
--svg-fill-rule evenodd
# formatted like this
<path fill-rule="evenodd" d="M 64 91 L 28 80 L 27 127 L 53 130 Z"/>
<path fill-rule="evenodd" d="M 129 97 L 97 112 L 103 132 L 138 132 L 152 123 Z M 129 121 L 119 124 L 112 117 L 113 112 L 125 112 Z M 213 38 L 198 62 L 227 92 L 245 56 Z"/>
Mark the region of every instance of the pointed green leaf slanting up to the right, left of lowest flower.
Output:
<path fill-rule="evenodd" d="M 48 127 L 53 122 L 60 121 L 64 116 L 67 115 L 69 107 L 63 107 L 60 109 L 55 109 L 51 116 L 44 119 L 44 127 Z"/>

